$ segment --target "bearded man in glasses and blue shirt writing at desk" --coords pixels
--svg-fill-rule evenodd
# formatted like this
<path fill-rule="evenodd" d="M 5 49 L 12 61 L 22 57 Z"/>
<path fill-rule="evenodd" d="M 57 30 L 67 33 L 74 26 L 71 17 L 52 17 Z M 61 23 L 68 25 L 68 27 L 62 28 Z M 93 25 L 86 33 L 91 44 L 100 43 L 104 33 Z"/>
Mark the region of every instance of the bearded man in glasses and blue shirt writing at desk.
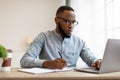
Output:
<path fill-rule="evenodd" d="M 83 40 L 72 34 L 74 26 L 78 24 L 75 19 L 71 7 L 59 7 L 55 30 L 40 33 L 33 40 L 20 61 L 21 66 L 62 69 L 65 66 L 75 67 L 81 57 L 88 66 L 99 68 L 100 60 L 90 52 Z"/>

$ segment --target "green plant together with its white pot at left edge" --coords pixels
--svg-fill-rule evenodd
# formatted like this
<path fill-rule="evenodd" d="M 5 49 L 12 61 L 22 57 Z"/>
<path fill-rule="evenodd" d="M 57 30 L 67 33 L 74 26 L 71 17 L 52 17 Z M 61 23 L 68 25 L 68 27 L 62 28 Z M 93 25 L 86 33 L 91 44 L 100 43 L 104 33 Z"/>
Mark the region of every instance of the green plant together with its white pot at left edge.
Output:
<path fill-rule="evenodd" d="M 7 49 L 3 45 L 0 45 L 0 69 L 3 64 L 3 61 L 7 59 L 7 54 Z"/>

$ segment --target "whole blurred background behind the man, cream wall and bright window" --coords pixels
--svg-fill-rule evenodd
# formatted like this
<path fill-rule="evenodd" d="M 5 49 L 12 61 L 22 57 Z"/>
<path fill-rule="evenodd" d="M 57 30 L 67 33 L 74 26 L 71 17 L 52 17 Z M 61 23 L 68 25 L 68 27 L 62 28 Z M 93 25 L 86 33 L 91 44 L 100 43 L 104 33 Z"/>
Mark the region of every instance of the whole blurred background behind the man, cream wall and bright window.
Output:
<path fill-rule="evenodd" d="M 55 29 L 61 5 L 74 8 L 79 25 L 73 34 L 98 58 L 103 57 L 108 38 L 120 39 L 120 0 L 0 0 L 0 44 L 13 50 L 12 67 L 20 67 L 20 58 L 40 32 Z"/>

